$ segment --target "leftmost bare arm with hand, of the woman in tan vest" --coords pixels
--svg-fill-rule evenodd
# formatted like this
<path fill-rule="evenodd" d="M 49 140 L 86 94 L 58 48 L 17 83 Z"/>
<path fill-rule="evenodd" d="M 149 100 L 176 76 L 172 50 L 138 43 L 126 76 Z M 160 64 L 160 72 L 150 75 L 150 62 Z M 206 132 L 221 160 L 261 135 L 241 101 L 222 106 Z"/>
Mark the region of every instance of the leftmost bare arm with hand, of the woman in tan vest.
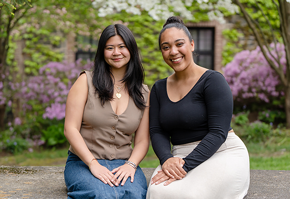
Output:
<path fill-rule="evenodd" d="M 68 94 L 64 134 L 76 155 L 89 166 L 89 163 L 94 156 L 86 146 L 81 134 L 79 133 L 88 92 L 86 74 L 81 74 Z M 112 173 L 106 167 L 101 166 L 98 161 L 93 160 L 91 162 L 91 172 L 103 183 L 113 186 L 110 182 L 113 177 Z"/>

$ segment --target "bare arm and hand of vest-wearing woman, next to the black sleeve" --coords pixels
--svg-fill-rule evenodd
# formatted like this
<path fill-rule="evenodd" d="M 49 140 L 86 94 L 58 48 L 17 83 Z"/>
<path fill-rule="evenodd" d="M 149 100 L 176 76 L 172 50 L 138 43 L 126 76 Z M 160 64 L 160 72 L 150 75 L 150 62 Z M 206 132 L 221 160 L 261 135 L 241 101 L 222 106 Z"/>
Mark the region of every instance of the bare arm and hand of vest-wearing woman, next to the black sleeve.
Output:
<path fill-rule="evenodd" d="M 150 95 L 150 93 L 149 93 Z M 129 158 L 129 161 L 134 162 L 136 166 L 139 165 L 139 163 L 143 160 L 143 158 L 146 156 L 149 148 L 149 96 L 147 100 L 147 107 L 144 110 L 142 119 L 139 123 L 139 127 L 135 132 L 134 137 L 134 148 L 132 151 L 132 154 Z M 120 184 L 123 186 L 125 182 L 127 181 L 128 177 L 131 177 L 131 182 L 134 181 L 134 175 L 135 175 L 135 169 L 128 165 L 124 164 L 118 168 L 115 168 L 111 171 L 112 173 L 116 172 L 113 181 L 115 181 L 115 184 Z M 118 179 L 117 179 L 118 178 Z"/>

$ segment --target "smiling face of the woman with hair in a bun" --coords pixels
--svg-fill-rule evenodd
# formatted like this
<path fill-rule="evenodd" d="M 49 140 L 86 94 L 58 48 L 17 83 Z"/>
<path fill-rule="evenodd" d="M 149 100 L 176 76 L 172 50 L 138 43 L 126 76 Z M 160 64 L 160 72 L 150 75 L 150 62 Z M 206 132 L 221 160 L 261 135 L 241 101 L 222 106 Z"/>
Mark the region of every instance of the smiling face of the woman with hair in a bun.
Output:
<path fill-rule="evenodd" d="M 177 28 L 166 29 L 160 38 L 161 53 L 164 61 L 175 72 L 183 71 L 194 64 L 192 52 L 194 42 L 190 42 L 183 30 Z"/>

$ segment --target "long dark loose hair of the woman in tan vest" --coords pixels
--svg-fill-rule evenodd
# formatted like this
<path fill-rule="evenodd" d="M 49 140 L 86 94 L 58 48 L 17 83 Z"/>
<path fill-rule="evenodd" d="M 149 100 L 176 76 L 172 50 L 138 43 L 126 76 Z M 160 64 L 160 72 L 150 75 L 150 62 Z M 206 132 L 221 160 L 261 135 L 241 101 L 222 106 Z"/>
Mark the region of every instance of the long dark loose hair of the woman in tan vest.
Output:
<path fill-rule="evenodd" d="M 139 109 L 144 110 L 146 107 L 146 102 L 144 102 L 142 95 L 144 69 L 141 64 L 139 49 L 132 32 L 122 24 L 110 25 L 101 34 L 93 69 L 93 85 L 96 88 L 95 91 L 98 93 L 102 105 L 106 101 L 113 99 L 114 80 L 111 78 L 111 66 L 104 59 L 104 49 L 107 40 L 116 35 L 122 37 L 131 56 L 122 82 L 125 82 L 125 89 L 128 91 L 130 97 L 133 98 L 135 105 Z"/>

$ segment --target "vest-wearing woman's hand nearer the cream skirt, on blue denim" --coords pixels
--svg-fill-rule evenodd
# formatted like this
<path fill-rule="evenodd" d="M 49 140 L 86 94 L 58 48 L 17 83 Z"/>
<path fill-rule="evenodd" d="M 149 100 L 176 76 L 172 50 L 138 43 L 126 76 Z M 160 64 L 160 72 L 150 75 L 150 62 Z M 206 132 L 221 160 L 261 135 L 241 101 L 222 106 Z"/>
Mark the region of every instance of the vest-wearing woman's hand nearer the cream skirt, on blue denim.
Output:
<path fill-rule="evenodd" d="M 112 183 L 115 186 L 119 186 L 122 179 L 123 180 L 122 180 L 121 185 L 123 186 L 129 177 L 131 178 L 131 182 L 134 181 L 135 169 L 129 164 L 124 164 L 122 166 L 119 166 L 113 169 L 111 172 L 115 173 L 112 179 Z"/>

